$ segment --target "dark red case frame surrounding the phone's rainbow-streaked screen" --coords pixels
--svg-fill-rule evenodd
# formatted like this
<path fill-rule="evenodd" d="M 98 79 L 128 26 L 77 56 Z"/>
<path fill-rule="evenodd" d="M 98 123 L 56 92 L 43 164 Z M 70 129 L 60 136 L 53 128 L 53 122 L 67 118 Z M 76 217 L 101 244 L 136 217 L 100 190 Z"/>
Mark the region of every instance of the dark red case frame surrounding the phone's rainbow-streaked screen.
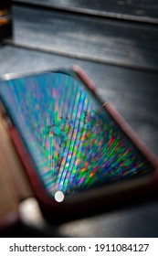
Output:
<path fill-rule="evenodd" d="M 55 69 L 49 72 L 74 72 L 79 80 L 89 88 L 94 97 L 100 101 L 96 93 L 96 87 L 85 72 L 79 67 L 75 66 L 72 69 Z M 46 72 L 42 72 L 46 73 Z M 38 73 L 39 74 L 39 73 Z M 40 73 L 41 74 L 41 73 Z M 37 74 L 32 74 L 37 75 Z M 30 76 L 30 75 L 29 75 Z M 13 80 L 26 77 L 26 75 L 15 76 L 5 75 L 3 80 Z M 155 194 L 158 190 L 158 160 L 151 150 L 142 143 L 139 136 L 132 130 L 131 126 L 125 122 L 121 114 L 112 106 L 110 102 L 103 103 L 100 101 L 100 106 L 105 108 L 111 114 L 112 119 L 118 123 L 121 130 L 132 140 L 132 143 L 142 152 L 142 154 L 153 165 L 154 171 L 150 175 L 135 177 L 124 181 L 120 184 L 110 184 L 105 187 L 90 188 L 85 191 L 80 191 L 78 194 L 66 196 L 63 202 L 58 203 L 53 197 L 50 197 L 46 189 L 42 186 L 39 176 L 35 171 L 35 165 L 30 159 L 29 153 L 20 138 L 18 131 L 14 125 L 9 128 L 9 133 L 13 144 L 16 148 L 16 153 L 24 165 L 26 174 L 33 187 L 37 201 L 45 215 L 51 221 L 52 216 L 56 216 L 56 221 L 62 222 L 64 219 L 76 219 L 78 216 L 85 216 L 86 213 L 96 212 L 96 210 L 106 210 L 109 208 L 120 207 L 127 200 L 137 200 L 139 197 L 146 195 L 148 197 L 152 193 Z M 63 214 L 64 211 L 64 214 Z"/>

